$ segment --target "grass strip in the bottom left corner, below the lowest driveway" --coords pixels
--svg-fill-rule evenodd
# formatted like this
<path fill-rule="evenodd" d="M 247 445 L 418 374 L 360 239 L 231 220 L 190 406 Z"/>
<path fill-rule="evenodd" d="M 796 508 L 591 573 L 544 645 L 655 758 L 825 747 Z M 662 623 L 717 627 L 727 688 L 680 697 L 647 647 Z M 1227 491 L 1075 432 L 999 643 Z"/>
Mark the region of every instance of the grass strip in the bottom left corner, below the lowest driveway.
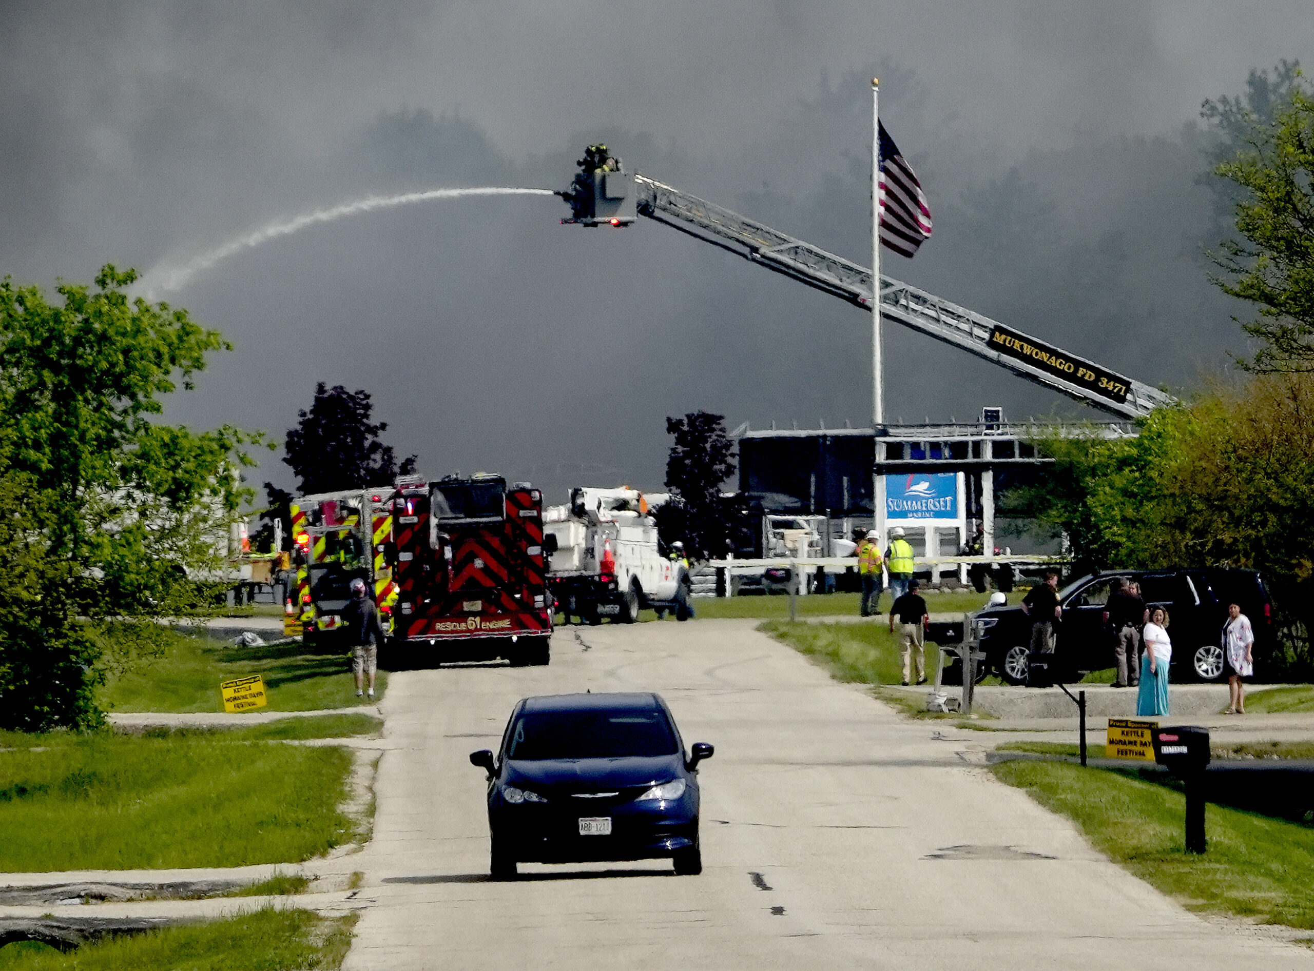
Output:
<path fill-rule="evenodd" d="M 261 909 L 231 920 L 108 938 L 60 953 L 46 945 L 0 947 L 0 971 L 336 971 L 357 915 Z"/>

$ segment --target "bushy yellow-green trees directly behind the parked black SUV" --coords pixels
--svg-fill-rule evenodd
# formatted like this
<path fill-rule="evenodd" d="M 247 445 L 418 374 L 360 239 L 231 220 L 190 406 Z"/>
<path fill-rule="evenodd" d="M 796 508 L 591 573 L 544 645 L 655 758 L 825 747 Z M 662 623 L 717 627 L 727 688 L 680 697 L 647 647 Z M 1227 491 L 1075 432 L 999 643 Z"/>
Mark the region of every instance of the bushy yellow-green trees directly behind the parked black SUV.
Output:
<path fill-rule="evenodd" d="M 1314 374 L 1254 374 L 1139 426 L 1038 443 L 1053 470 L 1009 502 L 1063 535 L 1079 570 L 1255 569 L 1284 618 L 1314 629 Z M 1314 673 L 1307 639 L 1288 646 Z"/>

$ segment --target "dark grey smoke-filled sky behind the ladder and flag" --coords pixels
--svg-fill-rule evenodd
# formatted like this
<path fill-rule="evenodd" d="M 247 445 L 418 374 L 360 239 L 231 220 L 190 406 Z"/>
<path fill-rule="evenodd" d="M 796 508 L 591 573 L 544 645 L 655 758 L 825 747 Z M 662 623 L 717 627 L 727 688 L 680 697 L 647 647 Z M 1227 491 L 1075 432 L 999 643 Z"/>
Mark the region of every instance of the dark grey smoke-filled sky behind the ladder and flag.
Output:
<path fill-rule="evenodd" d="M 0 275 L 185 260 L 371 193 L 564 188 L 585 145 L 870 263 L 870 78 L 936 233 L 883 271 L 1151 384 L 1243 352 L 1201 101 L 1314 62 L 1307 1 L 192 0 L 4 4 Z M 430 474 L 660 487 L 665 417 L 870 423 L 870 323 L 640 221 L 422 202 L 235 255 L 176 293 L 235 344 L 171 402 L 283 441 L 369 390 Z M 911 332 L 891 418 L 1097 413 Z M 277 455 L 252 481 L 293 485 Z"/>

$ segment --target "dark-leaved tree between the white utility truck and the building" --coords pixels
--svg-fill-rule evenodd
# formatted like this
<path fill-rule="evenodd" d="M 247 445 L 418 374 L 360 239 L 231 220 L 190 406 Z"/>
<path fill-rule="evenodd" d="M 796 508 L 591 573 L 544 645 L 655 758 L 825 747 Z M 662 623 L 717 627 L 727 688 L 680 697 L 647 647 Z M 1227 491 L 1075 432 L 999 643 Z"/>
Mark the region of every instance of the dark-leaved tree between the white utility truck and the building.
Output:
<path fill-rule="evenodd" d="M 666 543 L 681 540 L 695 560 L 725 556 L 737 541 L 740 505 L 721 495 L 721 484 L 738 468 L 724 418 L 690 411 L 666 419 L 666 434 L 675 439 L 666 459 L 673 501 L 657 511 L 657 528 Z"/>

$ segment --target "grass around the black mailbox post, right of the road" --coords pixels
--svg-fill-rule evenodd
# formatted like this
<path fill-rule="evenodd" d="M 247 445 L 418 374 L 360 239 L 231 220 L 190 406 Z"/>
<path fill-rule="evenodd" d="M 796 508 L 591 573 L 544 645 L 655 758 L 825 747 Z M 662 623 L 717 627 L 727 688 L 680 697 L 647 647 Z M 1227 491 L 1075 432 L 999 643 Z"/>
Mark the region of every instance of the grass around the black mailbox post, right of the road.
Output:
<path fill-rule="evenodd" d="M 999 762 L 995 775 L 1074 820 L 1114 862 L 1197 912 L 1314 928 L 1314 829 L 1210 804 L 1209 851 L 1183 847 L 1184 799 L 1167 786 L 1071 762 Z"/>

